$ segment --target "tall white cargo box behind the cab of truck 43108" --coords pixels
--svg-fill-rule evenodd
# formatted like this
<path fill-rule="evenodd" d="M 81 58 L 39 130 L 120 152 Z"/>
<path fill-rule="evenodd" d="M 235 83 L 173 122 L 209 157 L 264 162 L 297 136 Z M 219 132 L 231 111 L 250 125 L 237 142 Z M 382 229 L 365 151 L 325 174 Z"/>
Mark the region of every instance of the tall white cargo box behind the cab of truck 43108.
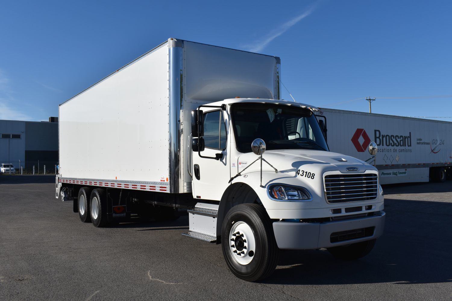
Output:
<path fill-rule="evenodd" d="M 60 175 L 190 192 L 191 110 L 238 96 L 278 98 L 278 72 L 274 56 L 170 39 L 60 105 Z"/>

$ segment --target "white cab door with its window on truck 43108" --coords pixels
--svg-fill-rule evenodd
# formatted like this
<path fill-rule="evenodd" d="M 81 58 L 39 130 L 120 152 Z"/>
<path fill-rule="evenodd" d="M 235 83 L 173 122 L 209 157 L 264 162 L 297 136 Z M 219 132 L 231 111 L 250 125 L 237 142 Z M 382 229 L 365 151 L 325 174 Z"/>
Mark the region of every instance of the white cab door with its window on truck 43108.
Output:
<path fill-rule="evenodd" d="M 228 141 L 225 115 L 226 112 L 221 109 L 203 114 L 204 150 L 200 153 L 192 153 L 193 198 L 195 199 L 219 201 L 229 185 L 231 174 L 226 147 Z M 216 156 L 220 159 L 214 159 Z"/>

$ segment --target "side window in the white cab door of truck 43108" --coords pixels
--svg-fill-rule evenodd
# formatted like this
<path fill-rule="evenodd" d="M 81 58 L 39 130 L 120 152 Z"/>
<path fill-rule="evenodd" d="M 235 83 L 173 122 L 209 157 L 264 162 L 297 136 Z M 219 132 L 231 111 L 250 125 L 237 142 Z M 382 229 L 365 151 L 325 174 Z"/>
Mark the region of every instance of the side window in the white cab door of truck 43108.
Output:
<path fill-rule="evenodd" d="M 204 114 L 204 145 L 207 148 L 226 148 L 226 126 L 221 111 Z"/>

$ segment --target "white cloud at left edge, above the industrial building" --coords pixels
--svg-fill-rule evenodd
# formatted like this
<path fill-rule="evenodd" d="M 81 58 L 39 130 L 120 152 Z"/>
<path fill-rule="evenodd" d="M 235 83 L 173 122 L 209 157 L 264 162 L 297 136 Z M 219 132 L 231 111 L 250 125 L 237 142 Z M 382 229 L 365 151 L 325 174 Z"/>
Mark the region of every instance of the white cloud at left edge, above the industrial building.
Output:
<path fill-rule="evenodd" d="M 11 106 L 12 103 L 17 103 L 17 100 L 14 99 L 12 93 L 11 88 L 9 88 L 9 78 L 6 76 L 5 72 L 0 69 L 0 119 L 32 120 L 30 116 Z"/>

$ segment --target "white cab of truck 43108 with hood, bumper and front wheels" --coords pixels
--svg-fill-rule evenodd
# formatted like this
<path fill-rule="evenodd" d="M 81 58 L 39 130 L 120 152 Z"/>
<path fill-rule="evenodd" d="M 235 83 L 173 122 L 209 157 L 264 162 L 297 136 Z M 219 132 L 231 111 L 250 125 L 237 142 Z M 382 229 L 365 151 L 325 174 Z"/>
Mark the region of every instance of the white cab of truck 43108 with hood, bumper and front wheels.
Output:
<path fill-rule="evenodd" d="M 235 98 L 192 112 L 190 172 L 199 203 L 190 212 L 191 235 L 221 240 L 240 278 L 273 270 L 279 249 L 327 248 L 356 259 L 383 232 L 377 169 L 330 152 L 316 111 L 297 102 Z M 212 208 L 215 232 L 196 217 Z"/>

